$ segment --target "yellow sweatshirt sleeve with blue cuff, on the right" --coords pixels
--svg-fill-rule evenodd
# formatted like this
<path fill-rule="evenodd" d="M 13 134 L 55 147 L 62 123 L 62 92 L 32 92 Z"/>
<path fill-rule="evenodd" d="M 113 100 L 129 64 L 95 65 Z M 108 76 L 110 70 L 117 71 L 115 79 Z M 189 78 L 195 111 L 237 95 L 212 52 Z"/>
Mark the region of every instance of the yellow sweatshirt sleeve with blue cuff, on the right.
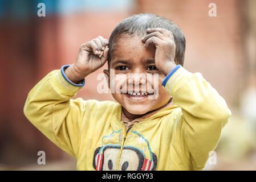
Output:
<path fill-rule="evenodd" d="M 231 111 L 201 73 L 190 73 L 180 65 L 165 77 L 162 85 L 173 96 L 173 103 L 181 107 L 177 129 L 180 144 L 189 151 L 190 168 L 202 169 L 209 152 L 216 148 Z"/>

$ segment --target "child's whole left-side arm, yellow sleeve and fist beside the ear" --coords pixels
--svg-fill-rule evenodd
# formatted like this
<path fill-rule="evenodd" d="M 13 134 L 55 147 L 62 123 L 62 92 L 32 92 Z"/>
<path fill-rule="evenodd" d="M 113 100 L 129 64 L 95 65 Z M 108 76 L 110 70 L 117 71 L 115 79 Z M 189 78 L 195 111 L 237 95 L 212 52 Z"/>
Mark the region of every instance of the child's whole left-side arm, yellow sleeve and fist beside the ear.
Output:
<path fill-rule="evenodd" d="M 81 126 L 87 125 L 83 119 L 84 111 L 98 106 L 95 102 L 71 98 L 84 85 L 84 77 L 107 61 L 107 45 L 107 39 L 101 36 L 83 44 L 74 65 L 66 65 L 60 70 L 48 73 L 32 88 L 26 100 L 24 113 L 29 121 L 57 146 L 73 156 L 79 151 Z"/>

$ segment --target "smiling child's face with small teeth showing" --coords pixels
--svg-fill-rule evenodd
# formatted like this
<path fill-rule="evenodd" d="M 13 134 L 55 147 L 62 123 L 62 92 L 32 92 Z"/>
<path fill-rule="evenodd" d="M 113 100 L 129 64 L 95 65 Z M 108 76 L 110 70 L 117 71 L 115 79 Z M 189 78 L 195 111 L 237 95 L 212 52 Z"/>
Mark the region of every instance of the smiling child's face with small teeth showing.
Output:
<path fill-rule="evenodd" d="M 115 72 L 115 85 L 125 90 L 120 93 L 115 89 L 112 96 L 131 114 L 145 114 L 159 109 L 171 97 L 161 85 L 165 76 L 155 66 L 155 47 L 145 48 L 141 38 L 136 35 L 121 37 L 113 47 L 109 64 L 109 69 Z M 109 71 L 105 73 L 109 76 Z M 157 79 L 155 82 L 154 78 Z M 149 94 L 152 92 L 154 96 Z"/>

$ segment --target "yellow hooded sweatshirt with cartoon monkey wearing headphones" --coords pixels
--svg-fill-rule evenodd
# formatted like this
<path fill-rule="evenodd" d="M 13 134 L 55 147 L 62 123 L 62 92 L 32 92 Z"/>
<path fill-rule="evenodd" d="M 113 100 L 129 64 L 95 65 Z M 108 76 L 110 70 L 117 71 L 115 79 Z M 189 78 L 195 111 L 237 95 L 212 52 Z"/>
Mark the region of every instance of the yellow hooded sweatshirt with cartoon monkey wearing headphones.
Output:
<path fill-rule="evenodd" d="M 174 105 L 127 132 L 119 103 L 73 100 L 83 84 L 72 84 L 63 70 L 48 73 L 34 86 L 24 112 L 47 138 L 76 158 L 78 170 L 200 170 L 231 115 L 201 73 L 178 65 L 162 82 Z"/>

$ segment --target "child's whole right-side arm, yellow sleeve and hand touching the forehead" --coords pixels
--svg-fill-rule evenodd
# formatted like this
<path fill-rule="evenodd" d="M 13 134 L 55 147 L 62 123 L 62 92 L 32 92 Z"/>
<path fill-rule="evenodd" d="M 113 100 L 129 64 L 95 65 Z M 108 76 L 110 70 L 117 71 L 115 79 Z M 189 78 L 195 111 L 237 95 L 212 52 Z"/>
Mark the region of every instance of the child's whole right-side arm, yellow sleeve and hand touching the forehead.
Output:
<path fill-rule="evenodd" d="M 186 155 L 185 158 L 192 163 L 191 169 L 202 169 L 209 152 L 215 150 L 231 112 L 224 98 L 200 73 L 193 74 L 176 65 L 172 32 L 164 28 L 149 28 L 147 32 L 141 41 L 145 47 L 155 44 L 156 66 L 166 76 L 162 85 L 173 96 L 173 103 L 182 110 L 174 134 L 180 147 L 174 151 Z M 175 161 L 172 161 L 173 165 Z"/>

